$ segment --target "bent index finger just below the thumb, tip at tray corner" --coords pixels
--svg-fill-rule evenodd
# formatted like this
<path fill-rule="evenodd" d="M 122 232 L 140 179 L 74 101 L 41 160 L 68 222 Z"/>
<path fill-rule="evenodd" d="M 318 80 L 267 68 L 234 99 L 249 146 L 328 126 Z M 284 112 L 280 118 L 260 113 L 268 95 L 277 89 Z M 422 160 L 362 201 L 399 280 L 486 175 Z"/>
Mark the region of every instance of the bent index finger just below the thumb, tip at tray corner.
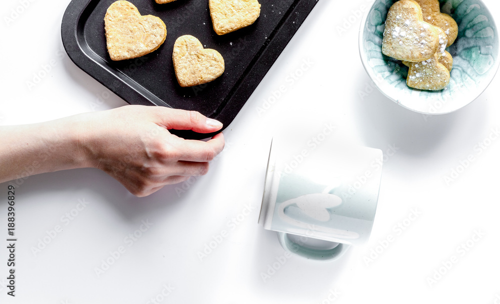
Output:
<path fill-rule="evenodd" d="M 179 143 L 181 151 L 179 160 L 189 162 L 211 161 L 224 149 L 224 135 L 218 133 L 208 141 L 182 140 Z"/>

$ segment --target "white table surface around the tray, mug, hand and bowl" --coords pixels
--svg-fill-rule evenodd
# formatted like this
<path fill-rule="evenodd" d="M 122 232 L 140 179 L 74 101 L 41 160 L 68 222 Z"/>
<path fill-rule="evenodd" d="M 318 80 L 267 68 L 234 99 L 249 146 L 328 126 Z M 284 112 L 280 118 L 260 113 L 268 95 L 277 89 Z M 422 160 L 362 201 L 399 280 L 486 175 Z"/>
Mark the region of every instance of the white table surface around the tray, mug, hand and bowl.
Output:
<path fill-rule="evenodd" d="M 8 25 L 5 17 L 20 1 L 1 4 L 0 124 L 125 105 L 63 51 L 60 22 L 69 1 L 29 1 Z M 500 3 L 485 2 L 500 22 Z M 16 296 L 6 295 L 4 239 L 0 302 L 500 303 L 500 140 L 488 140 L 500 127 L 500 77 L 451 114 L 427 117 L 398 106 L 372 88 L 360 63 L 356 11 L 368 4 L 317 3 L 224 131 L 226 148 L 209 173 L 184 184 L 185 192 L 178 195 L 182 185 L 173 185 L 136 198 L 97 169 L 24 180 L 15 190 Z M 349 16 L 355 22 L 339 33 Z M 300 71 L 304 60 L 311 66 Z M 46 77 L 28 89 L 33 73 L 51 63 Z M 292 73 L 301 76 L 290 81 Z M 280 86 L 286 92 L 259 113 Z M 367 96 L 361 98 L 360 92 Z M 107 98 L 99 102 L 99 96 Z M 329 135 L 333 139 L 384 153 L 396 150 L 386 153 L 371 239 L 336 262 L 292 256 L 273 273 L 269 267 L 285 252 L 275 233 L 257 225 L 271 137 L 296 134 L 300 151 L 324 124 L 336 127 Z M 487 148 L 478 148 L 479 142 Z M 473 161 L 447 183 L 444 176 L 460 170 L 469 155 Z M 7 184 L 0 184 L 1 229 L 7 223 Z M 79 201 L 86 204 L 76 211 Z M 65 214 L 71 211 L 70 220 Z M 227 224 L 232 218 L 240 220 L 237 226 Z M 143 221 L 152 226 L 146 229 Z M 34 254 L 56 225 L 62 231 Z M 198 252 L 222 230 L 228 236 L 200 261 Z M 127 236 L 134 232 L 140 238 L 131 241 Z M 392 242 L 386 248 L 377 247 L 387 238 Z M 95 268 L 111 261 L 110 252 L 120 246 L 119 258 L 97 276 Z M 379 254 L 370 262 L 371 250 Z M 261 274 L 268 271 L 272 276 L 264 282 Z M 435 271 L 443 274 L 429 284 Z"/>

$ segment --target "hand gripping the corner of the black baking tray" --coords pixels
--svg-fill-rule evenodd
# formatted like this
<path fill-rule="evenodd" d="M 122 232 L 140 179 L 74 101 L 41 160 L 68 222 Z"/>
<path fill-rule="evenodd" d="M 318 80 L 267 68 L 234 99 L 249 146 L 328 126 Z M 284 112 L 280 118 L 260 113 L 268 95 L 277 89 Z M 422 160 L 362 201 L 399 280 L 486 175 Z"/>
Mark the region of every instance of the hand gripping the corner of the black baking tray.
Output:
<path fill-rule="evenodd" d="M 198 112 L 127 105 L 73 116 L 78 146 L 88 167 L 106 172 L 135 196 L 208 172 L 208 161 L 224 148 L 222 133 L 204 142 L 185 140 L 169 129 L 210 133 L 222 124 Z"/>

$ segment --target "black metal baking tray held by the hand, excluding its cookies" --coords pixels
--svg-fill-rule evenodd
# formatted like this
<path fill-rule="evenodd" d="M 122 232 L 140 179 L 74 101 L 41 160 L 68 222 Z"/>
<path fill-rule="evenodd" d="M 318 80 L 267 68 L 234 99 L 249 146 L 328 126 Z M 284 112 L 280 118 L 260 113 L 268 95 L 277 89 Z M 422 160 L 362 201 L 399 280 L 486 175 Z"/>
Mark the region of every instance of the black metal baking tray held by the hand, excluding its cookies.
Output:
<path fill-rule="evenodd" d="M 257 20 L 234 32 L 217 35 L 208 0 L 129 0 L 141 15 L 165 22 L 165 42 L 142 57 L 112 61 L 106 49 L 104 15 L 114 0 L 72 0 L 62 17 L 61 37 L 69 58 L 82 70 L 130 104 L 195 110 L 228 126 L 271 65 L 312 10 L 317 0 L 259 0 Z M 182 88 L 172 62 L 173 43 L 190 34 L 224 58 L 224 73 L 214 81 Z M 199 134 L 174 130 L 183 138 Z"/>

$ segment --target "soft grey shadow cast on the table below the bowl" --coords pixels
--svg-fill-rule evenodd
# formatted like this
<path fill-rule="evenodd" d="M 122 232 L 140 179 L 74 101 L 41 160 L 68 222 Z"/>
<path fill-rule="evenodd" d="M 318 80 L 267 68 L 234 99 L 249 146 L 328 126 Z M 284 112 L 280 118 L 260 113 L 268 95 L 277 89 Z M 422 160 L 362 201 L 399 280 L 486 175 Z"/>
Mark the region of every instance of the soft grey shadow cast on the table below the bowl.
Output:
<path fill-rule="evenodd" d="M 396 144 L 401 153 L 424 158 L 464 124 L 470 126 L 467 134 L 463 134 L 466 138 L 483 129 L 487 105 L 481 102 L 481 96 L 455 112 L 425 115 L 388 99 L 374 87 L 364 71 L 359 73 L 358 91 L 353 97 L 355 113 L 359 133 L 369 147 L 385 152 L 389 145 Z"/>

